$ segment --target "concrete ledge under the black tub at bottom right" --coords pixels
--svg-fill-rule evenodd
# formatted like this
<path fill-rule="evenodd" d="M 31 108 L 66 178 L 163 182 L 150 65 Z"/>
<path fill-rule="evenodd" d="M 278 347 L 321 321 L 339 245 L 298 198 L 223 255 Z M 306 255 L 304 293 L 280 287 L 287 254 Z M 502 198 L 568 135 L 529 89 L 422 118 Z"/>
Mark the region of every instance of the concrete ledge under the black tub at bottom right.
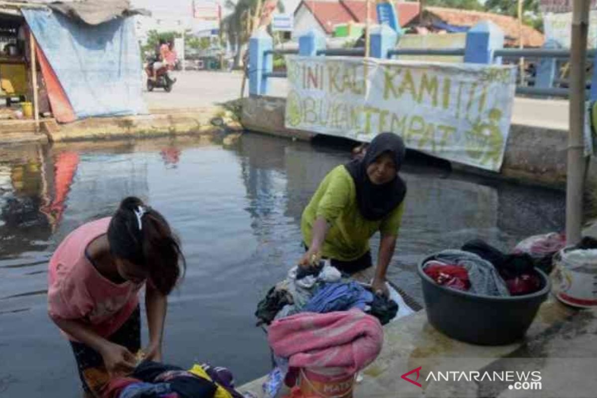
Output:
<path fill-rule="evenodd" d="M 362 372 L 354 398 L 595 398 L 597 309 L 577 311 L 550 298 L 525 341 L 483 347 L 452 340 L 427 322 L 425 311 L 384 328 L 384 347 Z M 421 366 L 417 387 L 401 375 Z M 514 380 L 467 381 L 461 372 L 514 372 Z M 540 372 L 536 390 L 517 390 L 516 372 Z M 430 372 L 458 372 L 457 381 L 433 380 Z M 409 378 L 416 379 L 416 375 Z M 239 388 L 263 397 L 263 378 Z M 512 389 L 510 389 L 512 385 Z M 284 393 L 282 393 L 284 394 Z"/>

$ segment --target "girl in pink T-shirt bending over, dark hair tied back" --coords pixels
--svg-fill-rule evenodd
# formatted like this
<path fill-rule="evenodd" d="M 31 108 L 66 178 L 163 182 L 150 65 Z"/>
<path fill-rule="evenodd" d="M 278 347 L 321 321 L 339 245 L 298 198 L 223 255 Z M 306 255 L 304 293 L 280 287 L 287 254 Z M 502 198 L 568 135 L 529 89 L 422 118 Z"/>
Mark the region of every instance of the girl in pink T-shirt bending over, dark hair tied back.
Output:
<path fill-rule="evenodd" d="M 136 366 L 143 285 L 149 326 L 144 358 L 161 360 L 167 296 L 184 267 L 165 218 L 134 197 L 60 243 L 48 269 L 48 314 L 70 341 L 86 397 L 99 396 L 110 377 Z"/>

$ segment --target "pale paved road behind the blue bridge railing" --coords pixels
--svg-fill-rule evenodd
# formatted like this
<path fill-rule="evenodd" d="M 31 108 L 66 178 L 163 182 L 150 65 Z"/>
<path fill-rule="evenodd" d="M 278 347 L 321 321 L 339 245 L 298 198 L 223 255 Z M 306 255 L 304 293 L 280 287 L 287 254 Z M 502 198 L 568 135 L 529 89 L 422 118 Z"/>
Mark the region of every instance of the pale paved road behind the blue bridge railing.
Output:
<path fill-rule="evenodd" d="M 162 89 L 145 92 L 150 109 L 203 107 L 235 100 L 241 93 L 242 75 L 238 72 L 179 72 L 170 93 Z M 272 79 L 271 94 L 284 97 L 286 79 Z M 247 82 L 248 86 L 248 82 Z M 245 95 L 248 87 L 245 88 Z M 546 128 L 568 128 L 568 101 L 516 98 L 512 122 Z"/>

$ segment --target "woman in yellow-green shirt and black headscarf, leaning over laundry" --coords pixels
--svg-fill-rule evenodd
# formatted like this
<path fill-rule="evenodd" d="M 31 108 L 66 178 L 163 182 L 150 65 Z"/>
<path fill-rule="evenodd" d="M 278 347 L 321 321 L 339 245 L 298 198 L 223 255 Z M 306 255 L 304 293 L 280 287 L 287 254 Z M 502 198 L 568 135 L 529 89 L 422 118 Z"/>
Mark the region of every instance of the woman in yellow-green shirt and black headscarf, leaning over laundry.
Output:
<path fill-rule="evenodd" d="M 396 247 L 407 186 L 398 171 L 406 149 L 391 132 L 377 135 L 364 157 L 334 168 L 319 184 L 301 220 L 306 253 L 353 274 L 371 267 L 369 239 L 379 231 L 381 242 L 373 279 L 374 292 L 387 295 L 386 271 Z"/>

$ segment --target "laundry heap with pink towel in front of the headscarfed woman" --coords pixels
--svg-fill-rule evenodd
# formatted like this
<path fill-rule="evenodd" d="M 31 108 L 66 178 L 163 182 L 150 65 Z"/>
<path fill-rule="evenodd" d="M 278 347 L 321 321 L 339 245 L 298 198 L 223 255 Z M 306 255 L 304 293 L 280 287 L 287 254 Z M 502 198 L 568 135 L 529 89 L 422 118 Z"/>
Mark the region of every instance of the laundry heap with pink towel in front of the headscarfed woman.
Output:
<path fill-rule="evenodd" d="M 337 377 L 350 377 L 373 362 L 383 343 L 381 325 L 398 313 L 396 301 L 404 303 L 373 294 L 328 262 L 290 269 L 255 313 L 258 325 L 269 325 L 275 362 L 263 383 L 264 397 L 277 396 L 283 383 L 296 385 L 300 368 L 334 369 Z M 404 306 L 401 316 L 412 313 Z"/>

